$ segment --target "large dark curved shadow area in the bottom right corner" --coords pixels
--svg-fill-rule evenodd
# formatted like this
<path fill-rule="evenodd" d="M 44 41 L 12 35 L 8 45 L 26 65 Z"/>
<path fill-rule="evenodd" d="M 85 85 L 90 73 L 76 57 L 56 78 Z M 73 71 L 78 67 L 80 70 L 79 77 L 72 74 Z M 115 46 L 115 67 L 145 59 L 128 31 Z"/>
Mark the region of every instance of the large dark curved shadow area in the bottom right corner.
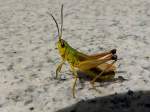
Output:
<path fill-rule="evenodd" d="M 150 91 L 131 91 L 82 100 L 57 112 L 150 112 Z"/>

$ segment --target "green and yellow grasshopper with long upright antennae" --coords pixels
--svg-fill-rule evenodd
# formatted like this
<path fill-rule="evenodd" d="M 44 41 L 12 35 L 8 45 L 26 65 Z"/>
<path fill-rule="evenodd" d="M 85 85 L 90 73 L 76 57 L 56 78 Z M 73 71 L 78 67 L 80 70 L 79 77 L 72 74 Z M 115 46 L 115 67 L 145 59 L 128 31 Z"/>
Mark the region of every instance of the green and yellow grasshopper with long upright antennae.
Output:
<path fill-rule="evenodd" d="M 60 29 L 55 17 L 52 14 L 50 15 L 57 27 L 58 32 L 57 48 L 62 58 L 61 63 L 58 65 L 56 69 L 56 78 L 58 78 L 58 73 L 61 71 L 63 64 L 67 61 L 70 65 L 71 71 L 73 72 L 75 78 L 72 87 L 73 97 L 75 97 L 75 86 L 78 79 L 78 73 L 76 68 L 92 78 L 91 84 L 93 88 L 95 88 L 94 82 L 97 79 L 105 81 L 113 79 L 115 76 L 115 69 L 116 69 L 114 63 L 117 61 L 116 49 L 92 55 L 87 55 L 85 53 L 77 51 L 76 49 L 71 47 L 65 40 L 62 39 L 63 5 L 61 6 Z"/>

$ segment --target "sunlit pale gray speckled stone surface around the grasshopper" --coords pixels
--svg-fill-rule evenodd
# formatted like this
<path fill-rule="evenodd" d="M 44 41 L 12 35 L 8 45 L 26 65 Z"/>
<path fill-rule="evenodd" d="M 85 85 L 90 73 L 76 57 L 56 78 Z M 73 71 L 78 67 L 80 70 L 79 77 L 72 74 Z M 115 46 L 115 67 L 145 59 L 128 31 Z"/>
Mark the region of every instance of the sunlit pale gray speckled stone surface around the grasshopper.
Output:
<path fill-rule="evenodd" d="M 47 14 L 60 20 L 63 39 L 85 53 L 117 49 L 116 77 L 124 82 L 100 86 L 77 84 L 66 64 L 66 80 L 54 79 L 61 61 L 57 30 Z M 54 112 L 80 100 L 114 93 L 150 90 L 150 1 L 148 0 L 0 0 L 0 112 Z M 97 83 L 98 84 L 98 83 Z"/>

